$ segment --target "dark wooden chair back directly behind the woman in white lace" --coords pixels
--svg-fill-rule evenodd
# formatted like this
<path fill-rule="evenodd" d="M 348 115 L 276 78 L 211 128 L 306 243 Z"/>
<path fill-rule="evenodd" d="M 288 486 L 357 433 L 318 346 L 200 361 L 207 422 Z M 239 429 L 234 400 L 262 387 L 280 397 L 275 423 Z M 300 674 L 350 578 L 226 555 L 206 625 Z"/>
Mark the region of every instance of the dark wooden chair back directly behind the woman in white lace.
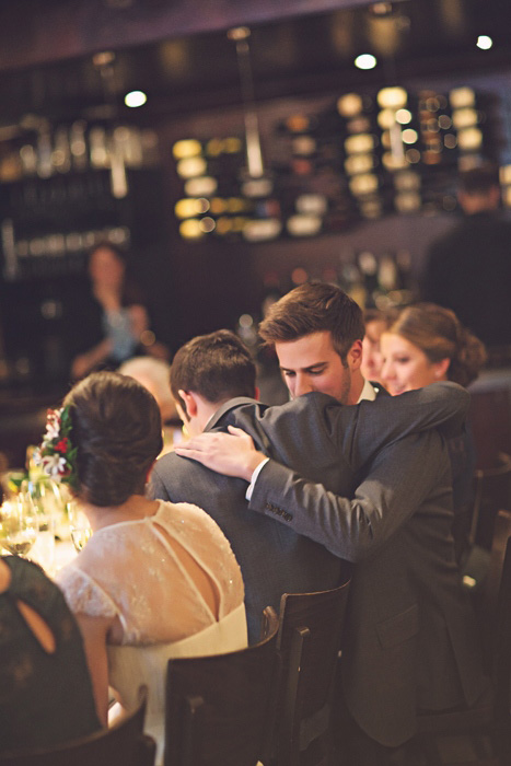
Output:
<path fill-rule="evenodd" d="M 256 766 L 272 731 L 278 620 L 240 651 L 170 660 L 164 766 Z M 269 620 L 269 622 L 268 622 Z"/>

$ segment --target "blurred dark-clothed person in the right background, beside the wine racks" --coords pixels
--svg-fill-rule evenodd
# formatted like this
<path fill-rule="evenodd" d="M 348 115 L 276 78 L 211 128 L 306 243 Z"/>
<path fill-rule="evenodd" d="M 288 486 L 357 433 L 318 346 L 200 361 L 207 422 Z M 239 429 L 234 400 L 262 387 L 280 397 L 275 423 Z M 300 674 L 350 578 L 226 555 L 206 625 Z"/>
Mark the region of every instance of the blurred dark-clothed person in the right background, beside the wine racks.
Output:
<path fill-rule="evenodd" d="M 487 346 L 490 362 L 510 363 L 511 222 L 499 213 L 498 167 L 461 173 L 457 198 L 463 218 L 431 245 L 420 298 L 454 311 Z"/>

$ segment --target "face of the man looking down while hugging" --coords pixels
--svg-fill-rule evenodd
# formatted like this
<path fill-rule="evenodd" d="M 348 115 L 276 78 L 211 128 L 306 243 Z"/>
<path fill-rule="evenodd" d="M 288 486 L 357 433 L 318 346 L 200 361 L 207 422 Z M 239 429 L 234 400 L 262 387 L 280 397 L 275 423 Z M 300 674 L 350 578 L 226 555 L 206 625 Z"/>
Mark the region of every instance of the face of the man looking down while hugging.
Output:
<path fill-rule="evenodd" d="M 361 347 L 361 341 L 357 340 L 356 345 L 357 348 L 358 345 Z M 276 343 L 275 350 L 291 398 L 318 391 L 334 396 L 341 404 L 351 404 L 351 349 L 345 367 L 334 348 L 329 330 L 311 333 L 298 340 Z"/>

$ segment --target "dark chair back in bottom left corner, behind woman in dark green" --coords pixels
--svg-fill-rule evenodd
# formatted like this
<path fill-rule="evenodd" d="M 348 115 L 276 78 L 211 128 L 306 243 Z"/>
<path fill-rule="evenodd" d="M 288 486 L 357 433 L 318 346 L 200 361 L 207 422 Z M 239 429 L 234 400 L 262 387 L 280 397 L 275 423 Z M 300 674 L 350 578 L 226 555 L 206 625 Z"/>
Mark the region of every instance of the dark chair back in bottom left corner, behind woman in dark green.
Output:
<path fill-rule="evenodd" d="M 147 688 L 138 708 L 111 729 L 47 748 L 0 754 L 0 766 L 153 766 L 155 742 L 143 734 Z"/>

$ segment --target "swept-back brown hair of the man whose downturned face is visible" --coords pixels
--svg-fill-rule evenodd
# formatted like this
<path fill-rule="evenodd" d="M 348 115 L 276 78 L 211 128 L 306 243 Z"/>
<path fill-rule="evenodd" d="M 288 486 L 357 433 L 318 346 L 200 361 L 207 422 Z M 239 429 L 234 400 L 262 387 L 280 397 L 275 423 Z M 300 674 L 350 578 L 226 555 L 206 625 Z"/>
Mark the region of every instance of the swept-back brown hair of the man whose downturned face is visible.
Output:
<path fill-rule="evenodd" d="M 324 330 L 332 333 L 334 348 L 342 361 L 353 343 L 364 336 L 360 306 L 336 285 L 327 282 L 306 282 L 294 288 L 274 303 L 259 325 L 259 335 L 268 345 Z"/>

